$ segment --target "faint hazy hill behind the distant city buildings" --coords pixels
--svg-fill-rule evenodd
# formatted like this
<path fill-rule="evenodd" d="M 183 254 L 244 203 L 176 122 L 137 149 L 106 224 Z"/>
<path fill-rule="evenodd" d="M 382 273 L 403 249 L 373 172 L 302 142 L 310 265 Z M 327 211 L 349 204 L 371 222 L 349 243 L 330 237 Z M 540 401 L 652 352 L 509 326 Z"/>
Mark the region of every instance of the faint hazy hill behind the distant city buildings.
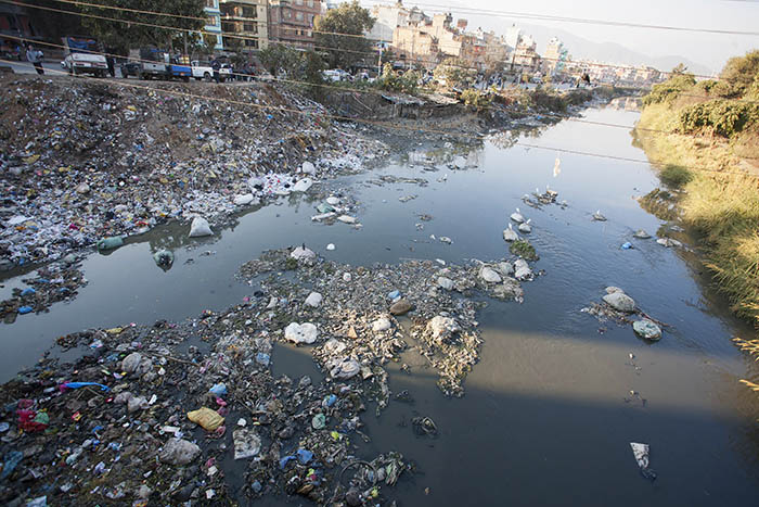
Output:
<path fill-rule="evenodd" d="M 684 63 L 687 69 L 694 74 L 708 76 L 713 73 L 713 71 L 706 65 L 695 63 L 683 56 L 649 56 L 614 42 L 593 42 L 561 28 L 523 24 L 518 24 L 517 26 L 519 26 L 524 33 L 535 37 L 535 40 L 538 42 L 538 52 L 541 54 L 548 41 L 552 37 L 558 37 L 567 47 L 574 60 L 588 59 L 600 60 L 607 63 L 651 65 L 659 71 L 671 71 L 672 67 L 679 63 Z"/>

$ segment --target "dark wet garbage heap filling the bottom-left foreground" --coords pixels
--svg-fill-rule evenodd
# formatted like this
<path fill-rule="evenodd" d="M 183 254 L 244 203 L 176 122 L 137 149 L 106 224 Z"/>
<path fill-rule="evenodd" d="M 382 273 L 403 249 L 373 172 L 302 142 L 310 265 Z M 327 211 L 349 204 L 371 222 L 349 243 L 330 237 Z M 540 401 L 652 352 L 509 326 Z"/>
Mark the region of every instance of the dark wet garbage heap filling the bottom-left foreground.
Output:
<path fill-rule="evenodd" d="M 59 339 L 88 352 L 47 357 L 0 394 L 0 502 L 388 503 L 413 467 L 396 452 L 358 457 L 375 382 L 347 364 L 324 381 L 274 378 L 281 330 L 252 318 L 262 306 Z"/>

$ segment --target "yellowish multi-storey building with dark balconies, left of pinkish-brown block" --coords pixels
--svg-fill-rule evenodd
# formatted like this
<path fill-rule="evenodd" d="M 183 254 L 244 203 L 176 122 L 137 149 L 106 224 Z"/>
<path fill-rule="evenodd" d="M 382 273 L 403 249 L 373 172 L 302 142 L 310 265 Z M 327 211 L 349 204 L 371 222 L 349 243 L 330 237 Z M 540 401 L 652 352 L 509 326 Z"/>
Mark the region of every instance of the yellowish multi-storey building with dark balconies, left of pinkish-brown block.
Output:
<path fill-rule="evenodd" d="M 267 0 L 220 0 L 219 8 L 224 48 L 252 51 L 269 47 Z"/>

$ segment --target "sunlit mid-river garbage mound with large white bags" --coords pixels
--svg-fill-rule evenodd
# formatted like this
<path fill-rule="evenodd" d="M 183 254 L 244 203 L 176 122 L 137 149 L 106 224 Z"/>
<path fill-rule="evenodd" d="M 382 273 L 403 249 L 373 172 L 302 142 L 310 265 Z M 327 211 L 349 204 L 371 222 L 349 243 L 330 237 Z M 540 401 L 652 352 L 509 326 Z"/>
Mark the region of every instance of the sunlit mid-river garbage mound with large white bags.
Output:
<path fill-rule="evenodd" d="M 520 263 L 527 264 L 517 258 L 352 267 L 324 261 L 304 244 L 266 252 L 243 265 L 240 277 L 252 286 L 259 282 L 266 300 L 253 318 L 269 322 L 285 341 L 313 345 L 312 355 L 330 378 L 371 381 L 381 410 L 390 395 L 384 365 L 401 358 L 411 346 L 408 338 L 437 371 L 441 391 L 464 394 L 464 379 L 481 345 L 475 315 L 484 303 L 472 296 L 477 291 L 522 302 L 520 282 L 513 277 Z M 402 316 L 410 320 L 408 332 Z"/>

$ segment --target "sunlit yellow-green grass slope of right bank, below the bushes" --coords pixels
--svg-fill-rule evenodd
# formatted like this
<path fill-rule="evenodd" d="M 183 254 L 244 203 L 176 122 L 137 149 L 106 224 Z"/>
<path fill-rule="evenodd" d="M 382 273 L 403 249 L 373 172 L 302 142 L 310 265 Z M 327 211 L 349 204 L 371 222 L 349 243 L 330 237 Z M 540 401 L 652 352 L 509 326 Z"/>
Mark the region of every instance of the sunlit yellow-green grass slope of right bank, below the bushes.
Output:
<path fill-rule="evenodd" d="M 686 97 L 645 106 L 635 141 L 659 169 L 679 218 L 700 237 L 704 264 L 732 309 L 759 326 L 757 134 L 680 134 L 679 115 L 693 103 Z"/>

